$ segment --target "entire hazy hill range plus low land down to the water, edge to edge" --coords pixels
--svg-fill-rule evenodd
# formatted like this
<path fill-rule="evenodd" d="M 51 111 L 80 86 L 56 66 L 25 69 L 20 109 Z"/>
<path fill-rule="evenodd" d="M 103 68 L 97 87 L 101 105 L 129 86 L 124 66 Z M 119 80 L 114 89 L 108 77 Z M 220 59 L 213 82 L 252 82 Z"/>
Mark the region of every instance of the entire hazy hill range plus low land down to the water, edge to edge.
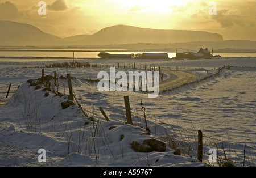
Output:
<path fill-rule="evenodd" d="M 227 40 L 221 35 L 204 31 L 163 30 L 133 26 L 112 26 L 93 35 L 60 37 L 31 26 L 0 21 L 0 46 L 75 46 L 88 49 L 170 50 L 176 48 L 256 49 L 256 41 Z M 180 50 L 179 50 L 180 51 Z"/>

